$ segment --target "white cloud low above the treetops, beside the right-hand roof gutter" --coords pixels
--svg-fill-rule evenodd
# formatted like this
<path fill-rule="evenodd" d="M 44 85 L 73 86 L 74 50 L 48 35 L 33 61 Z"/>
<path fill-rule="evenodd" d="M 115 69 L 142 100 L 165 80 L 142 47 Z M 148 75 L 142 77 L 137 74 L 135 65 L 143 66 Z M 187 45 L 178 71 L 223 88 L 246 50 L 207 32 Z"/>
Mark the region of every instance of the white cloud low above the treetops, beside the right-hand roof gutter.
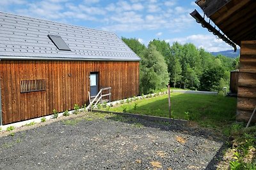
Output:
<path fill-rule="evenodd" d="M 187 36 L 185 38 L 172 38 L 166 39 L 166 42 L 172 44 L 173 42 L 177 41 L 178 43 L 185 44 L 185 43 L 193 43 L 198 48 L 202 47 L 207 52 L 219 52 L 222 50 L 230 50 L 232 49 L 231 46 L 227 45 L 222 39 L 216 38 L 216 36 L 209 34 L 195 34 L 191 36 Z"/>

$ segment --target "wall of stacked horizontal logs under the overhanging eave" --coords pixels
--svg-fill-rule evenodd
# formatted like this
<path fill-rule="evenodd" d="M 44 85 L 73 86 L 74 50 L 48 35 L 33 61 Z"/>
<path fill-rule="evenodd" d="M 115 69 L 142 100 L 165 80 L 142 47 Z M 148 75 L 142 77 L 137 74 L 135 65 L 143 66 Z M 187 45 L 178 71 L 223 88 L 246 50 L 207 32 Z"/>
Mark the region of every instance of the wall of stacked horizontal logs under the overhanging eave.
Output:
<path fill-rule="evenodd" d="M 242 41 L 237 94 L 238 121 L 248 122 L 256 106 L 256 41 Z M 256 115 L 253 117 L 256 122 Z"/>

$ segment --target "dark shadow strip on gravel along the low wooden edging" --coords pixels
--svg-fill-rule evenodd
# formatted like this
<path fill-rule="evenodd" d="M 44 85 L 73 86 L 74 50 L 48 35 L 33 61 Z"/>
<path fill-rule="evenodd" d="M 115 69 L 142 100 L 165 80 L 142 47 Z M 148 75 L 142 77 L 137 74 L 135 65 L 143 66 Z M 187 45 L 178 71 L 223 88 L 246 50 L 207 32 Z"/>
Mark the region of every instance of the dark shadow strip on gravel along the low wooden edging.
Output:
<path fill-rule="evenodd" d="M 189 134 L 211 141 L 223 142 L 225 141 L 224 136 L 216 131 L 209 131 L 208 129 L 189 127 L 188 122 L 180 122 L 179 120 L 172 120 L 172 122 L 162 122 L 153 120 L 143 120 L 143 118 L 136 118 L 130 115 L 112 115 L 107 117 L 109 120 L 115 120 L 118 122 L 124 122 L 127 124 L 133 124 L 137 126 L 152 127 L 160 129 L 161 131 L 173 131 L 180 132 L 182 134 Z"/>

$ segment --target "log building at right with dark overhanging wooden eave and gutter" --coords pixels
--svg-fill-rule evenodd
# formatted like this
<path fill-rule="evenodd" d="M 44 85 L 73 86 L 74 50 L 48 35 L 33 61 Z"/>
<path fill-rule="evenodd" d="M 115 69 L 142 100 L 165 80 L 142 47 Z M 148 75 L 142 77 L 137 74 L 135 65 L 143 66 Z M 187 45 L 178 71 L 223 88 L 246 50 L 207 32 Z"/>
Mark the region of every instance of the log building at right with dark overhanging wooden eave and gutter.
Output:
<path fill-rule="evenodd" d="M 198 0 L 196 4 L 208 17 L 202 17 L 195 10 L 191 15 L 196 22 L 234 50 L 236 45 L 241 47 L 236 119 L 248 122 L 256 106 L 256 1 Z M 256 115 L 253 122 L 256 122 Z"/>

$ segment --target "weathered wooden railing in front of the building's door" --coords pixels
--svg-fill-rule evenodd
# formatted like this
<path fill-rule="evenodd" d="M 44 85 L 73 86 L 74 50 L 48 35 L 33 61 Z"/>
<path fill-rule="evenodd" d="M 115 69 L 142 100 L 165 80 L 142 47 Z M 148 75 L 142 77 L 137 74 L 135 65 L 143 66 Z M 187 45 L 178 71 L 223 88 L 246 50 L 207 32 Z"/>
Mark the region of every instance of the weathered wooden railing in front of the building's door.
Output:
<path fill-rule="evenodd" d="M 97 106 L 99 102 L 102 104 L 104 102 L 111 101 L 111 87 L 100 89 L 99 93 L 96 96 L 90 96 L 90 92 L 88 92 L 88 96 L 89 96 L 89 106 L 87 109 L 90 108 L 90 110 L 92 111 L 92 109 L 95 106 Z"/>

